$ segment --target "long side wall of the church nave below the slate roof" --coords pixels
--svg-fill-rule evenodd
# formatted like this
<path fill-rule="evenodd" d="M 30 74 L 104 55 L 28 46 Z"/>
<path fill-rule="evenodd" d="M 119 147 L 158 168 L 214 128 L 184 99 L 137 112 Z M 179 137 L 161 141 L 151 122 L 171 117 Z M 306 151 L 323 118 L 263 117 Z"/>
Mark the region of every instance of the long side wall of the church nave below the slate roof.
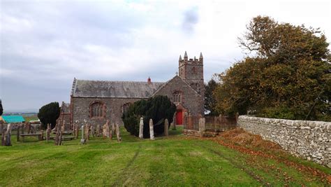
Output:
<path fill-rule="evenodd" d="M 105 118 L 89 118 L 89 104 L 94 101 L 101 101 L 105 103 L 106 115 Z M 123 104 L 128 102 L 134 103 L 140 99 L 130 99 L 130 98 L 85 98 L 85 97 L 74 97 L 73 98 L 73 123 L 82 125 L 84 120 L 92 125 L 103 125 L 106 120 L 110 120 L 110 123 L 119 123 L 123 125 L 122 121 L 122 107 Z"/>

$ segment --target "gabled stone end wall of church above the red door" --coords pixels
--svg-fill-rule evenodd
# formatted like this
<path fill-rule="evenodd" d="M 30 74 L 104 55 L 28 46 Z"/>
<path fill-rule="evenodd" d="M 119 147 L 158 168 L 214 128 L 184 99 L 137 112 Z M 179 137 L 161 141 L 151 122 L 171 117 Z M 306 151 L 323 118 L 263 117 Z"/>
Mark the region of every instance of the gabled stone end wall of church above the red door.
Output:
<path fill-rule="evenodd" d="M 156 95 L 167 95 L 173 102 L 172 97 L 173 92 L 182 92 L 182 106 L 189 111 L 192 115 L 203 115 L 204 113 L 204 98 L 194 90 L 192 90 L 189 85 L 184 83 L 178 76 L 168 82 L 161 90 L 156 92 Z"/>

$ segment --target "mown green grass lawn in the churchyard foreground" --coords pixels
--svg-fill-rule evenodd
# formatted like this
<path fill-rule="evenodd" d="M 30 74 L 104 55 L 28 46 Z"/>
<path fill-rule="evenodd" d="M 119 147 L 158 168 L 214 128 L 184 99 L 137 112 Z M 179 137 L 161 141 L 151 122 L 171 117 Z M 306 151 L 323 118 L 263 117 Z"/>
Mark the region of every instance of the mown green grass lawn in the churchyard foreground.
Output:
<path fill-rule="evenodd" d="M 252 157 L 209 139 L 169 137 L 140 140 L 122 129 L 122 143 L 102 137 L 16 142 L 0 146 L 0 186 L 325 186 L 327 181 L 271 158 Z M 15 133 L 13 133 L 15 134 Z M 298 158 L 293 162 L 329 168 Z M 259 163 L 259 164 L 256 164 Z"/>

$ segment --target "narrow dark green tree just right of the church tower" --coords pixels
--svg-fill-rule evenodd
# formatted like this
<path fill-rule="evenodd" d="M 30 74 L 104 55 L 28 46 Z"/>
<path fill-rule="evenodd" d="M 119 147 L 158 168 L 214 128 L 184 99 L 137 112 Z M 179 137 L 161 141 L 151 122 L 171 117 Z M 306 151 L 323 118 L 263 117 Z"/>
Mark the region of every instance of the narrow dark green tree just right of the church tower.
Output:
<path fill-rule="evenodd" d="M 205 112 L 208 113 L 208 115 L 216 116 L 219 113 L 215 110 L 216 106 L 216 99 L 214 98 L 213 92 L 217 87 L 216 81 L 212 78 L 210 81 L 208 81 L 207 84 L 205 84 Z"/>

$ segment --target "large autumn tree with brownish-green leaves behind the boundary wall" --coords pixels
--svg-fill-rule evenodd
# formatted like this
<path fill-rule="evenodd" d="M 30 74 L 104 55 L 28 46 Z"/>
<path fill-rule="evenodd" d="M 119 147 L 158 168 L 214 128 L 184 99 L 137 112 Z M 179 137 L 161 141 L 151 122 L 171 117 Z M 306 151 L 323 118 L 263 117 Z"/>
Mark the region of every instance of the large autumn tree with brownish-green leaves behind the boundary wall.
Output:
<path fill-rule="evenodd" d="M 217 111 L 331 120 L 331 55 L 319 29 L 258 16 L 239 41 L 255 56 L 219 74 Z"/>

